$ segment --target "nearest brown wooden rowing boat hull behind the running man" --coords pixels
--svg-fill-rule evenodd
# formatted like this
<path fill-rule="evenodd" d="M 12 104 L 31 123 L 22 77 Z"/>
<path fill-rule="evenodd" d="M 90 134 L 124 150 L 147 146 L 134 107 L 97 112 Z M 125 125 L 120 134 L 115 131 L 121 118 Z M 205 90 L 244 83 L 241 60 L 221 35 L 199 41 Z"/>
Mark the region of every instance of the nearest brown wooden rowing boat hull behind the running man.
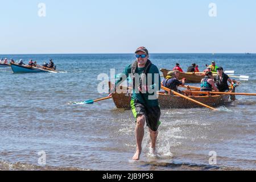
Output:
<path fill-rule="evenodd" d="M 109 87 L 111 88 L 112 86 L 113 84 L 109 83 Z M 112 98 L 115 106 L 119 109 L 130 109 L 131 108 L 130 107 L 131 88 L 128 89 L 120 86 L 119 89 L 127 90 L 127 93 L 112 94 Z M 196 89 L 191 89 L 191 90 L 196 90 Z M 230 90 L 230 92 L 234 92 L 234 90 Z M 159 92 L 158 94 L 159 94 L 159 97 L 158 97 L 159 105 L 162 109 L 201 107 L 200 105 L 197 105 L 195 102 L 191 102 L 179 96 L 166 94 L 164 92 Z M 196 93 L 192 93 L 192 94 L 193 94 L 192 96 L 188 96 L 188 97 L 212 107 L 218 107 L 218 106 L 224 105 L 226 102 L 229 101 L 229 95 L 199 96 L 199 94 L 196 94 Z"/>

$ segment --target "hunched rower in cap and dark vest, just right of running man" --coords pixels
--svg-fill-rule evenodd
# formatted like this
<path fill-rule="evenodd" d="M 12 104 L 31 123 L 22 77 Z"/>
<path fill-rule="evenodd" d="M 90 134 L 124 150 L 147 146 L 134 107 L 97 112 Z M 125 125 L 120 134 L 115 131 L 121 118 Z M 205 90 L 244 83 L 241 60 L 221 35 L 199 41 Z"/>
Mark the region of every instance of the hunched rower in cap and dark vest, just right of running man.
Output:
<path fill-rule="evenodd" d="M 163 80 L 163 83 L 162 83 L 163 86 L 168 89 L 174 90 L 175 92 L 181 93 L 181 90 L 178 89 L 178 86 L 180 85 L 184 86 L 186 79 L 183 78 L 182 82 L 180 82 L 178 80 L 179 75 L 180 75 L 180 72 L 177 70 L 168 72 L 167 77 L 164 78 Z"/>

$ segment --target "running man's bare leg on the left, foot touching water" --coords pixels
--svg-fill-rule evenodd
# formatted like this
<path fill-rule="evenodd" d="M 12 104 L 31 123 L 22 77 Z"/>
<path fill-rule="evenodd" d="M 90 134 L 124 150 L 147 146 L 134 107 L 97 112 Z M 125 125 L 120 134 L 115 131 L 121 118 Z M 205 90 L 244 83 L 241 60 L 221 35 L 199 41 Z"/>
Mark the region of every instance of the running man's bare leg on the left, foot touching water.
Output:
<path fill-rule="evenodd" d="M 135 129 L 137 150 L 133 156 L 133 160 L 139 160 L 139 156 L 141 156 L 145 122 L 146 122 L 146 117 L 144 115 L 139 115 L 137 117 L 137 125 Z"/>

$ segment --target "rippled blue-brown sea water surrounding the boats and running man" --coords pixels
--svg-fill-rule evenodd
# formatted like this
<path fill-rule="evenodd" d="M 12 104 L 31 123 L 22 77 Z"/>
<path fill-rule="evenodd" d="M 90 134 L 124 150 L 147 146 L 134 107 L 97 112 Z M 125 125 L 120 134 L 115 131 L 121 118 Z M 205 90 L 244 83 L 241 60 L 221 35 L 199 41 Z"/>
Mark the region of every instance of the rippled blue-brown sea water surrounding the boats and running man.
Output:
<path fill-rule="evenodd" d="M 130 110 L 116 109 L 111 99 L 71 104 L 106 97 L 97 92 L 97 76 L 109 74 L 111 68 L 122 72 L 133 54 L 0 57 L 38 64 L 53 59 L 60 71 L 14 74 L 11 68 L 0 68 L 0 170 L 256 169 L 254 96 L 237 96 L 218 111 L 162 110 L 158 156 L 148 154 L 145 130 L 141 160 L 133 162 L 135 123 Z M 255 54 L 152 54 L 150 60 L 159 69 L 172 69 L 178 62 L 184 71 L 192 63 L 203 71 L 214 60 L 236 76 L 250 76 L 237 92 L 256 93 Z M 216 164 L 209 164 L 209 152 L 216 154 Z"/>

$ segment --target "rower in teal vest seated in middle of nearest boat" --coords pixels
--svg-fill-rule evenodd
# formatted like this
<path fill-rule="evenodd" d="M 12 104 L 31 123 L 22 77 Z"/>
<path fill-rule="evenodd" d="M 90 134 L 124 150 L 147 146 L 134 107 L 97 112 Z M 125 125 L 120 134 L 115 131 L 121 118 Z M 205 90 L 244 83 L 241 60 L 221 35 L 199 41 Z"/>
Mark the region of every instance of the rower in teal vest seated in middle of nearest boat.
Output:
<path fill-rule="evenodd" d="M 203 92 L 212 92 L 212 89 L 218 92 L 218 88 L 214 84 L 214 77 L 212 75 L 212 72 L 208 71 L 205 73 L 205 77 L 201 80 L 201 89 L 200 91 Z"/>

